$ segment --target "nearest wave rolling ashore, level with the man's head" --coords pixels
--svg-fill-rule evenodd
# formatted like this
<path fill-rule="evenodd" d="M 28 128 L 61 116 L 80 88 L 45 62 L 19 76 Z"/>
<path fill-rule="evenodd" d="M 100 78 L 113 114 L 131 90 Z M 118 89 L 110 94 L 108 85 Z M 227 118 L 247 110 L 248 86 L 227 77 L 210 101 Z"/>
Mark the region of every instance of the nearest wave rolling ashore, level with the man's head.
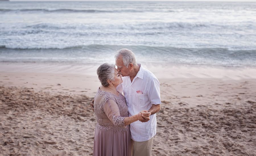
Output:
<path fill-rule="evenodd" d="M 144 45 L 76 45 L 59 48 L 15 48 L 0 46 L 0 62 L 96 63 L 107 62 L 121 48 L 131 49 L 143 62 L 185 65 L 256 67 L 255 50 L 226 48 L 177 48 Z M 95 59 L 97 58 L 97 59 Z M 98 61 L 97 61 L 98 60 Z M 103 60 L 103 61 L 102 61 Z"/>

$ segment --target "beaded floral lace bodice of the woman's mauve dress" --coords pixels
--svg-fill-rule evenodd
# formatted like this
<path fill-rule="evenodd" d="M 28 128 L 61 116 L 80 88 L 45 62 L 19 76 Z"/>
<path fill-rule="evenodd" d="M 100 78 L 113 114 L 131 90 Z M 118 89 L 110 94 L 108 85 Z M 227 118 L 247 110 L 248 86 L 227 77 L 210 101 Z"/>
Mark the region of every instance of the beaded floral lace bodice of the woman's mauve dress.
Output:
<path fill-rule="evenodd" d="M 125 101 L 125 97 L 121 93 L 117 96 L 100 89 L 98 89 L 98 95 L 102 97 L 102 101 L 100 103 L 94 104 L 94 113 L 97 121 L 96 128 L 105 130 L 106 132 L 109 130 L 121 133 L 128 131 L 129 125 L 125 126 L 124 123 L 124 118 L 128 117 L 128 107 Z M 104 104 L 109 99 L 112 99 L 117 103 L 120 112 L 120 116 L 113 115 L 112 121 L 109 120 L 106 113 L 104 112 Z"/>

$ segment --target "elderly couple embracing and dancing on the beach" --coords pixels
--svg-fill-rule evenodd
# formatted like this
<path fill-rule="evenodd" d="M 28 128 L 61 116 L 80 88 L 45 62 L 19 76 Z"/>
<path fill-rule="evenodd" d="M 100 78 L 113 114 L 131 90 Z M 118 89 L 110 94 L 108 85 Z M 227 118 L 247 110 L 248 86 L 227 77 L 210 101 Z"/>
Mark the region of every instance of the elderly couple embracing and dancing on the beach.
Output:
<path fill-rule="evenodd" d="M 149 156 L 161 104 L 160 84 L 128 49 L 117 51 L 115 64 L 117 69 L 108 63 L 97 69 L 102 85 L 90 103 L 97 120 L 93 155 Z"/>

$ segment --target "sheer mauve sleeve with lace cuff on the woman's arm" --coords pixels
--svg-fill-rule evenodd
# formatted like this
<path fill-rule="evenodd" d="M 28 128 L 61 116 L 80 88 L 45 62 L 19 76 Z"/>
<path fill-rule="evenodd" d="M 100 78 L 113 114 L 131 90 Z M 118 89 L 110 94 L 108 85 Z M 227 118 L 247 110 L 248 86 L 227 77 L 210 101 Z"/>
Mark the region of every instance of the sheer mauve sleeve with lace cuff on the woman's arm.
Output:
<path fill-rule="evenodd" d="M 110 121 L 117 127 L 125 128 L 124 119 L 125 117 L 120 116 L 119 108 L 117 103 L 112 99 L 107 99 L 104 105 L 104 111 Z"/>

